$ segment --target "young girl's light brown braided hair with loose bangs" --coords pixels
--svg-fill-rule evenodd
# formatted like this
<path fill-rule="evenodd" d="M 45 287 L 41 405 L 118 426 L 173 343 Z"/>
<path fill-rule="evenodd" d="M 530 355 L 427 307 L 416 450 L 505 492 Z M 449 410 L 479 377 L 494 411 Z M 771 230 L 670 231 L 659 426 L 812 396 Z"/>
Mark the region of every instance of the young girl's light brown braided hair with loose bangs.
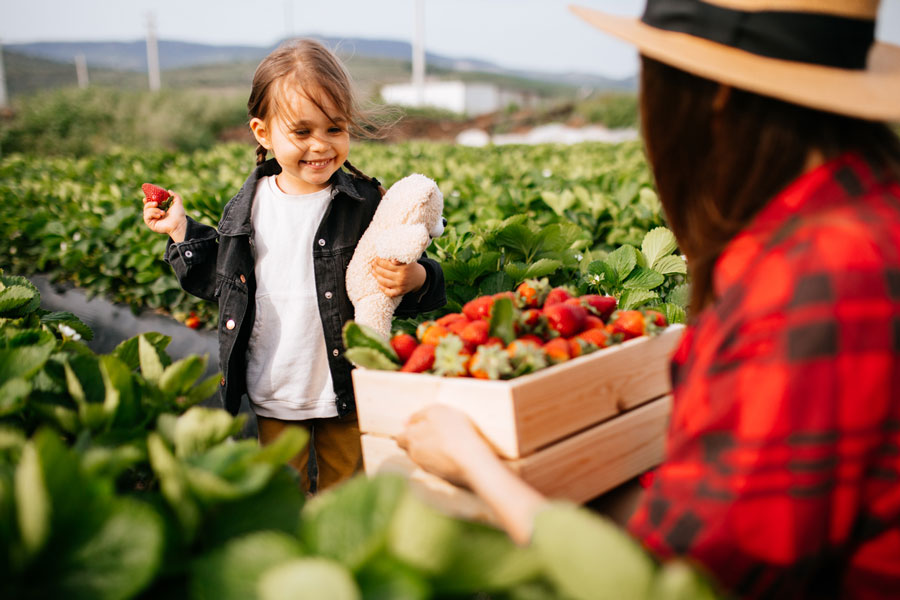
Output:
<path fill-rule="evenodd" d="M 363 111 L 356 99 L 353 82 L 341 61 L 328 48 L 315 40 L 299 39 L 285 42 L 263 59 L 253 74 L 247 113 L 251 119 L 269 122 L 273 116 L 286 117 L 290 107 L 279 102 L 285 97 L 287 86 L 296 86 L 329 118 L 342 117 L 357 137 L 377 138 L 382 126 L 376 122 L 374 111 Z M 325 105 L 339 111 L 330 115 Z M 266 160 L 266 149 L 256 147 L 256 164 Z M 355 177 L 374 181 L 345 161 L 344 166 Z M 384 195 L 384 188 L 378 186 Z"/>

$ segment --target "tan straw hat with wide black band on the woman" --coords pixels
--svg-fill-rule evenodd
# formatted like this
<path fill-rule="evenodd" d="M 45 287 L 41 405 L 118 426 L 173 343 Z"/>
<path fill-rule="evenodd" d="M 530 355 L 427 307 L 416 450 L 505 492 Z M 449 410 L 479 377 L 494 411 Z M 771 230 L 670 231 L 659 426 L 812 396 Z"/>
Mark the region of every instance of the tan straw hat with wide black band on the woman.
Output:
<path fill-rule="evenodd" d="M 647 0 L 641 19 L 572 12 L 689 73 L 819 110 L 900 120 L 900 46 L 878 0 Z"/>

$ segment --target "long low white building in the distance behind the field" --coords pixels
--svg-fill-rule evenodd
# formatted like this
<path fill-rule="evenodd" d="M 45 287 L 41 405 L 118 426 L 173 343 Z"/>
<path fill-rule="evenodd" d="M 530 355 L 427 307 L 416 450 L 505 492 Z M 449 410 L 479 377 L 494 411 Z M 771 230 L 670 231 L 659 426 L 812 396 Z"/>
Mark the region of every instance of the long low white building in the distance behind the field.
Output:
<path fill-rule="evenodd" d="M 420 103 L 412 84 L 388 84 L 381 88 L 381 97 L 388 104 L 433 106 L 470 116 L 501 110 L 510 104 L 532 106 L 536 101 L 533 94 L 504 90 L 492 83 L 428 81 L 422 92 Z"/>

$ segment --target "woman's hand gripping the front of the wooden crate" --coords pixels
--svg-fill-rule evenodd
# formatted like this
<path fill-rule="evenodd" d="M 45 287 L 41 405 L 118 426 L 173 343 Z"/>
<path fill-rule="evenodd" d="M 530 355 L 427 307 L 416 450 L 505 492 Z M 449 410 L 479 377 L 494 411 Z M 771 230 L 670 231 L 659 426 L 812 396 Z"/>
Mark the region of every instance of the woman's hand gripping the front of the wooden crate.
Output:
<path fill-rule="evenodd" d="M 443 404 L 415 413 L 396 440 L 413 462 L 457 485 L 471 487 L 474 471 L 499 461 L 472 421 Z"/>

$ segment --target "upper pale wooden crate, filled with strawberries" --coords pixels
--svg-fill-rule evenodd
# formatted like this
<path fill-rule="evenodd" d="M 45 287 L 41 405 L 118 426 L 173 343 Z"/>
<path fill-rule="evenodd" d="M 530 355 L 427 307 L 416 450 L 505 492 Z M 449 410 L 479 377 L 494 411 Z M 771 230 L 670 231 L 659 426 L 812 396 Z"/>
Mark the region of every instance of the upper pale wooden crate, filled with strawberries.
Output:
<path fill-rule="evenodd" d="M 636 338 L 509 381 L 353 370 L 359 427 L 390 438 L 433 403 L 465 412 L 494 449 L 519 459 L 670 391 L 684 327 Z"/>

